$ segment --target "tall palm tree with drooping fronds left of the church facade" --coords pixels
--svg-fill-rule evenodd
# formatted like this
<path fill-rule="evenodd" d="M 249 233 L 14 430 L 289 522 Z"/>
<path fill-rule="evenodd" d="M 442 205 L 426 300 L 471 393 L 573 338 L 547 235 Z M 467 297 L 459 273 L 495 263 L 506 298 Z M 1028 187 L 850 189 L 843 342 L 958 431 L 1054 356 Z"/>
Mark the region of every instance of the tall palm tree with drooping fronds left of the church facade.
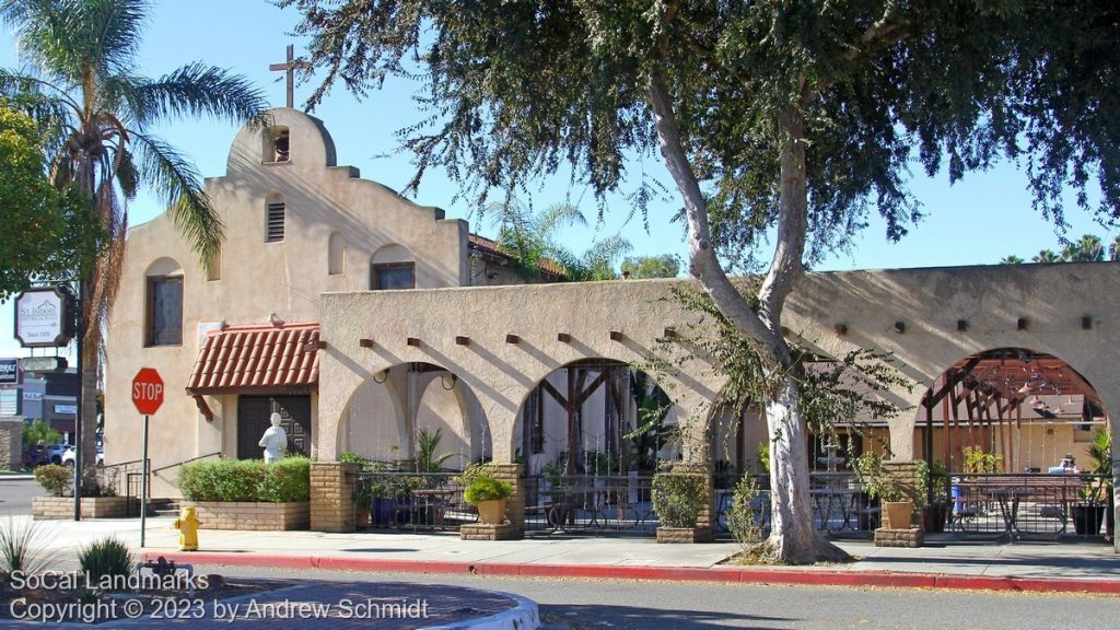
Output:
<path fill-rule="evenodd" d="M 141 186 L 161 194 L 204 266 L 223 240 L 198 173 L 151 129 L 187 115 L 268 121 L 261 93 L 222 68 L 194 63 L 159 78 L 134 74 L 149 9 L 147 0 L 0 1 L 0 20 L 16 30 L 21 61 L 32 68 L 0 71 L 0 92 L 27 103 L 49 130 L 54 185 L 84 193 L 105 234 L 92 269 L 77 271 L 85 462 L 93 462 L 93 392 L 104 319 L 120 281 L 127 202 Z"/>

